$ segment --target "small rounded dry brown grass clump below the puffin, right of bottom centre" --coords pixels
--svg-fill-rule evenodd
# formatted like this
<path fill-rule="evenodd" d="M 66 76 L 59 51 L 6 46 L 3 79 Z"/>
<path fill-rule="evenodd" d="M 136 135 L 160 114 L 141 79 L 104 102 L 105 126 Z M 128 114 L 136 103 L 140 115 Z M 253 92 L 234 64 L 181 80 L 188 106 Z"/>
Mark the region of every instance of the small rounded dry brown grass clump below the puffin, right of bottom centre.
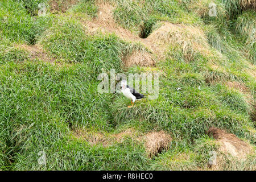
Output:
<path fill-rule="evenodd" d="M 152 131 L 144 136 L 145 147 L 150 158 L 170 147 L 172 138 L 164 131 Z"/>

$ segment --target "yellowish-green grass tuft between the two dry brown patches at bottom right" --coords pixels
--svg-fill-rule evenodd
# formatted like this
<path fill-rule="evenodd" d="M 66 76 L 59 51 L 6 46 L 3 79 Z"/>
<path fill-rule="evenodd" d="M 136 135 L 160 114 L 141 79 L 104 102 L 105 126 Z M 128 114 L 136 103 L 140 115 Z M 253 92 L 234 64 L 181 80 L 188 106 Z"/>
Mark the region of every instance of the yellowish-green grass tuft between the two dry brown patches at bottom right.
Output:
<path fill-rule="evenodd" d="M 151 169 L 173 171 L 207 169 L 210 152 L 217 150 L 213 139 L 207 135 L 196 139 L 193 148 L 181 140 L 172 142 L 172 145 L 169 151 L 155 159 Z"/>

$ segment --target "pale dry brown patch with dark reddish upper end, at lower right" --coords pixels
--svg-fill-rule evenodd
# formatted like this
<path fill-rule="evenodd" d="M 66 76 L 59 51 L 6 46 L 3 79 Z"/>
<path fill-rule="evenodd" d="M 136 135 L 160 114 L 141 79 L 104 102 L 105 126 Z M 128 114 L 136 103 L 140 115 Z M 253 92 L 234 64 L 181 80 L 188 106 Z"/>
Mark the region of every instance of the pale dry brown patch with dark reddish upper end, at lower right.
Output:
<path fill-rule="evenodd" d="M 218 144 L 220 144 L 219 149 L 224 154 L 230 154 L 238 159 L 242 159 L 253 152 L 253 147 L 249 143 L 237 138 L 234 134 L 226 133 L 224 130 L 210 127 L 208 135 L 213 136 L 217 140 Z"/>

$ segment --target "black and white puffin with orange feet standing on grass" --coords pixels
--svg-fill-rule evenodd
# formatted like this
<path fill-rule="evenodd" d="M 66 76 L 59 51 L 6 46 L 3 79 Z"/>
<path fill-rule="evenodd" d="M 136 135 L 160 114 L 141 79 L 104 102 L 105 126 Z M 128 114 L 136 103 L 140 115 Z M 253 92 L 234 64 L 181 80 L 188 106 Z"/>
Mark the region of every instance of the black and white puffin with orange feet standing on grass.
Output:
<path fill-rule="evenodd" d="M 134 88 L 127 85 L 126 80 L 121 81 L 121 86 L 122 86 L 121 92 L 123 93 L 123 95 L 131 100 L 132 105 L 128 106 L 128 108 L 133 107 L 134 102 L 136 100 L 141 100 L 142 98 L 145 97 L 143 94 L 137 92 Z"/>

